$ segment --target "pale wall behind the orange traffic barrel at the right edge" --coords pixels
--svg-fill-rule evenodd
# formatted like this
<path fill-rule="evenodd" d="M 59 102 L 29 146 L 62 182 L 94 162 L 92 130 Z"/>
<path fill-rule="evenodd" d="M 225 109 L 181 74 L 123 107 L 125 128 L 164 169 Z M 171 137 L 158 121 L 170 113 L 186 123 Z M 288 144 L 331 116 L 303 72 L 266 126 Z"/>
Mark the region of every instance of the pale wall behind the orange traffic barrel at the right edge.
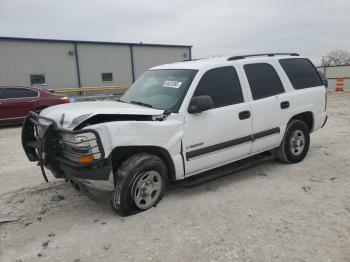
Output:
<path fill-rule="evenodd" d="M 317 69 L 325 74 L 328 80 L 328 90 L 335 90 L 337 87 L 337 79 L 344 79 L 341 81 L 344 83 L 343 89 L 345 91 L 350 91 L 350 65 L 317 67 Z"/>

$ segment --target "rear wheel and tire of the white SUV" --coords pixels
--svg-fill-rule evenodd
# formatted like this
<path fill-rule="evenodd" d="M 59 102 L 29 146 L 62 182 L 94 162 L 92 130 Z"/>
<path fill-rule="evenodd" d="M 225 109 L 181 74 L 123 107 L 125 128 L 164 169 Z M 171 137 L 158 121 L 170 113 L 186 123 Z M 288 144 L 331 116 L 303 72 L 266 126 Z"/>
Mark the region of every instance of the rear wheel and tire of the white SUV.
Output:
<path fill-rule="evenodd" d="M 276 157 L 288 164 L 302 161 L 310 146 L 310 131 L 304 121 L 292 120 L 286 129 L 281 145 L 276 150 Z"/>

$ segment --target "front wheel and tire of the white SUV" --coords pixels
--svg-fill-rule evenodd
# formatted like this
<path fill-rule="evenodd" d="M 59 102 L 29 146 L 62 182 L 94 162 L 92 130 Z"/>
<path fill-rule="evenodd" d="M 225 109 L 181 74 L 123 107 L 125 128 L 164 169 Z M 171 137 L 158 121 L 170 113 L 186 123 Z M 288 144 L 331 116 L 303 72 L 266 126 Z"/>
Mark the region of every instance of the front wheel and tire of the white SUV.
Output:
<path fill-rule="evenodd" d="M 111 195 L 111 204 L 122 216 L 150 209 L 163 197 L 167 167 L 154 154 L 138 153 L 129 157 L 114 175 L 116 185 Z"/>

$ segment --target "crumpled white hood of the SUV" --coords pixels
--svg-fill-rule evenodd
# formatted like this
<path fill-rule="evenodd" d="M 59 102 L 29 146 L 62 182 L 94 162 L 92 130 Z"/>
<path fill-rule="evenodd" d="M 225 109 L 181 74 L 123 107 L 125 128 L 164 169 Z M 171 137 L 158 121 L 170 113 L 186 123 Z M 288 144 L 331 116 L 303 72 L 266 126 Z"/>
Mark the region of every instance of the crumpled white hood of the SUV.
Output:
<path fill-rule="evenodd" d="M 139 105 L 115 101 L 76 102 L 51 106 L 44 109 L 40 115 L 56 121 L 59 127 L 74 129 L 82 122 L 98 115 L 123 116 L 124 120 L 135 120 L 140 116 L 162 115 L 164 110 L 147 108 Z M 109 118 L 110 118 L 109 117 Z M 117 120 L 117 119 L 116 119 Z"/>

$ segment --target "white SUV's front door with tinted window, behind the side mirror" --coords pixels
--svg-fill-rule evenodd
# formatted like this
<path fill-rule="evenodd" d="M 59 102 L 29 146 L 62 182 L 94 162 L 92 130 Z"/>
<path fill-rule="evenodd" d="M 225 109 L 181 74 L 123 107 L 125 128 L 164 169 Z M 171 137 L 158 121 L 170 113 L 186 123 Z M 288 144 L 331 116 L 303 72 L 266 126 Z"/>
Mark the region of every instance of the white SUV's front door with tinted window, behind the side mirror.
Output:
<path fill-rule="evenodd" d="M 250 153 L 252 118 L 234 67 L 208 70 L 193 97 L 208 95 L 214 108 L 186 113 L 183 136 L 186 175 L 220 166 Z"/>

